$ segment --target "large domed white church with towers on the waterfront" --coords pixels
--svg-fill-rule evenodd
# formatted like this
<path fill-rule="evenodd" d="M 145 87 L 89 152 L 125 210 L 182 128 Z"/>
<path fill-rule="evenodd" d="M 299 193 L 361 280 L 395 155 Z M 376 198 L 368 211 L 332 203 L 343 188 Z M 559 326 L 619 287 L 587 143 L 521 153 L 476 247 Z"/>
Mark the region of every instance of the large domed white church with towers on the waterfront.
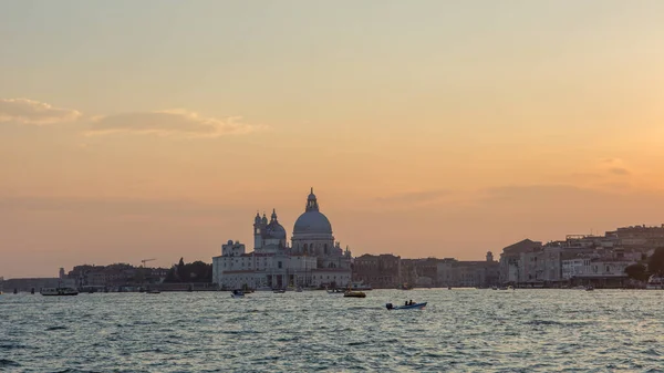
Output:
<path fill-rule="evenodd" d="M 304 213 L 295 220 L 292 245 L 272 210 L 270 220 L 253 218 L 253 251 L 228 241 L 212 258 L 212 282 L 221 288 L 286 289 L 289 287 L 345 287 L 351 282 L 351 252 L 342 250 L 332 225 L 320 211 L 313 188 Z"/>

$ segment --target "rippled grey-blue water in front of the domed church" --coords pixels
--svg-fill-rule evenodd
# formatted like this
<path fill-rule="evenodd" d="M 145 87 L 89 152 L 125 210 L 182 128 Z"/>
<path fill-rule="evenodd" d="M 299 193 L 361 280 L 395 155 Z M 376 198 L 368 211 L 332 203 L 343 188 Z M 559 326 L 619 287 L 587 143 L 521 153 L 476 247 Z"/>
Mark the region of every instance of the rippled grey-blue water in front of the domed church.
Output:
<path fill-rule="evenodd" d="M 0 296 L 8 372 L 662 372 L 661 291 Z M 423 311 L 387 302 L 428 301 Z"/>

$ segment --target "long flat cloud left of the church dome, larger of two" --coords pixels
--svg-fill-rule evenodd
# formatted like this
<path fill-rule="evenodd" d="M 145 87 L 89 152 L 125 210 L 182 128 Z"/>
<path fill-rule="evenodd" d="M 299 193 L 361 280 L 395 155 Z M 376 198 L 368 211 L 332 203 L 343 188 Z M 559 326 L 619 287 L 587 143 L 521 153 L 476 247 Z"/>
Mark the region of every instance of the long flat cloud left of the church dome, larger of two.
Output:
<path fill-rule="evenodd" d="M 187 111 L 113 114 L 93 118 L 87 135 L 126 133 L 195 138 L 246 134 L 262 128 L 241 123 L 240 120 L 241 117 L 208 118 Z"/>

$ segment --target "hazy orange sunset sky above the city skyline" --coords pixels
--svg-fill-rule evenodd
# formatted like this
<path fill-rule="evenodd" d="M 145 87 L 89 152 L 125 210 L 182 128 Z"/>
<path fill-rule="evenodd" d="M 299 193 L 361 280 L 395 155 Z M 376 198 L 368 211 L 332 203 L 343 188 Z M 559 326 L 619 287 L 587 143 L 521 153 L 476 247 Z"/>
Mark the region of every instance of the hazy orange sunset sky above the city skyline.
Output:
<path fill-rule="evenodd" d="M 0 2 L 0 277 L 664 222 L 664 2 Z"/>

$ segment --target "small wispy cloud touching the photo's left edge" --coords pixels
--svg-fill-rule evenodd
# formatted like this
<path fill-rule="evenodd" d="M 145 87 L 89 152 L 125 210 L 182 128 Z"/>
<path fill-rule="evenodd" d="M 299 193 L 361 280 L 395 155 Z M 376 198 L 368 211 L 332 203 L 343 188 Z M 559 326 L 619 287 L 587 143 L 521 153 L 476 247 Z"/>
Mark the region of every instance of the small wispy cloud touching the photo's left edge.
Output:
<path fill-rule="evenodd" d="M 0 99 L 0 122 L 24 124 L 53 124 L 77 120 L 82 114 L 75 110 L 53 107 L 28 99 Z"/>

